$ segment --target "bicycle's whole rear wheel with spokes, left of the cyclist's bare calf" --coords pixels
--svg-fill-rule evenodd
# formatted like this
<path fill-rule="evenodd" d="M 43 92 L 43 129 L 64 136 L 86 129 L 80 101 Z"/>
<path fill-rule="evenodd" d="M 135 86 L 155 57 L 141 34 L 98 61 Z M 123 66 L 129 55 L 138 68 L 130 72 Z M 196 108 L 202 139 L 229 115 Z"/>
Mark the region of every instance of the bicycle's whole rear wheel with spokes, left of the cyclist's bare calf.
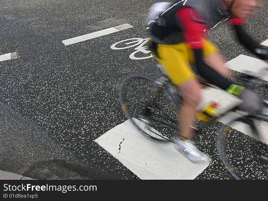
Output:
<path fill-rule="evenodd" d="M 178 104 L 172 90 L 145 74 L 126 78 L 120 100 L 134 128 L 153 141 L 168 142 L 178 133 Z"/>

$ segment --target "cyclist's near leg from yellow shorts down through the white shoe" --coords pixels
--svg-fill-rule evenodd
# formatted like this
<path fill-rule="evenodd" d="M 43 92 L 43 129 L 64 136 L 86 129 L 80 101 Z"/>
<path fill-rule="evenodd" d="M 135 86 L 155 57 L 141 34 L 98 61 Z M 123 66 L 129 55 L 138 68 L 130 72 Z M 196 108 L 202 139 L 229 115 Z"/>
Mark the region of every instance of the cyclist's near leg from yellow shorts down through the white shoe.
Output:
<path fill-rule="evenodd" d="M 178 87 L 183 96 L 183 102 L 178 114 L 180 124 L 180 135 L 192 139 L 193 119 L 195 109 L 200 101 L 200 86 L 190 66 L 184 43 L 175 45 L 158 45 L 157 60 L 163 65 L 170 80 Z M 177 148 L 189 160 L 200 163 L 208 162 L 209 157 L 196 148 L 196 145 L 187 139 L 173 138 Z"/>

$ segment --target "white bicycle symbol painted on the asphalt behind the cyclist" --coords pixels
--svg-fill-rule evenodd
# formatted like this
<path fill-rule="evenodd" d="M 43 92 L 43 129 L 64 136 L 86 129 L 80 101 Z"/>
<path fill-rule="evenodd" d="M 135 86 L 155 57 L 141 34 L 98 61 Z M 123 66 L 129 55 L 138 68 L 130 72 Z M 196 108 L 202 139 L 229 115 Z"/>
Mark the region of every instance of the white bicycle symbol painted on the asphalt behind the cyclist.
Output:
<path fill-rule="evenodd" d="M 130 38 L 130 39 L 126 39 L 126 40 L 123 40 L 123 41 L 119 41 L 115 44 L 113 44 L 111 46 L 111 49 L 113 50 L 122 50 L 122 49 L 127 49 L 127 48 L 132 48 L 132 47 L 135 47 L 137 45 L 139 45 L 138 47 L 136 47 L 134 50 L 134 52 L 132 52 L 130 55 L 129 55 L 129 58 L 131 59 L 146 59 L 146 58 L 151 58 L 153 57 L 153 55 L 150 54 L 150 50 L 148 48 L 148 45 L 145 45 L 148 41 L 150 40 L 150 38 Z M 130 42 L 127 42 L 125 43 L 126 41 L 130 41 Z M 131 44 L 130 46 L 125 46 L 125 45 L 129 45 Z M 142 52 L 144 54 L 150 54 L 150 56 L 146 56 L 146 57 L 136 57 L 135 54 L 138 53 L 138 52 Z"/>

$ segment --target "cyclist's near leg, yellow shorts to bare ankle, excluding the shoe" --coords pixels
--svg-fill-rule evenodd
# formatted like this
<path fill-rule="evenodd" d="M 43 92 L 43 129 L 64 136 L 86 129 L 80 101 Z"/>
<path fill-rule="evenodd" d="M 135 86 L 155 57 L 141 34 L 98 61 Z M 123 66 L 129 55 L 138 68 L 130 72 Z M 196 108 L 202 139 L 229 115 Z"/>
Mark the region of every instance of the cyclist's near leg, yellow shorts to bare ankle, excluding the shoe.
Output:
<path fill-rule="evenodd" d="M 178 87 L 182 93 L 183 103 L 178 114 L 181 122 L 180 135 L 192 139 L 193 131 L 190 125 L 193 124 L 195 109 L 200 101 L 200 85 L 195 79 L 188 62 L 185 44 L 161 45 L 157 47 L 157 60 L 163 66 L 169 79 Z"/>

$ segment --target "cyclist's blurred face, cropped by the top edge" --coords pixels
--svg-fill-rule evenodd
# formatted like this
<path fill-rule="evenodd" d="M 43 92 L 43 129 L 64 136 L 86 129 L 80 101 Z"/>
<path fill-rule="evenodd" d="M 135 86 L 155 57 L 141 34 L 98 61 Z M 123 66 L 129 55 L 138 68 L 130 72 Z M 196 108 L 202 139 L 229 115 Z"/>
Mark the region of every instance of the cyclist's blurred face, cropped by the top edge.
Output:
<path fill-rule="evenodd" d="M 228 12 L 236 17 L 247 18 L 254 14 L 257 7 L 261 5 L 261 0 L 222 0 Z"/>

